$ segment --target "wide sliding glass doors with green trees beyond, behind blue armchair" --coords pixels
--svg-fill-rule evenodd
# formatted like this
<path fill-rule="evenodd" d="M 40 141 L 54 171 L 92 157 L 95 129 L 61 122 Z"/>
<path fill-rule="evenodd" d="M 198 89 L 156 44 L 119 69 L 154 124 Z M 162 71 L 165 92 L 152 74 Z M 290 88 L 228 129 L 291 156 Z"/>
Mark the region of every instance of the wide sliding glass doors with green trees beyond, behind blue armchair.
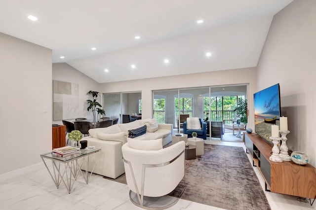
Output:
<path fill-rule="evenodd" d="M 246 89 L 246 85 L 236 85 L 153 91 L 153 117 L 158 123 L 172 123 L 180 133 L 182 118 L 198 117 L 206 122 L 210 137 L 210 122 L 233 121 L 237 101 L 246 98 Z"/>

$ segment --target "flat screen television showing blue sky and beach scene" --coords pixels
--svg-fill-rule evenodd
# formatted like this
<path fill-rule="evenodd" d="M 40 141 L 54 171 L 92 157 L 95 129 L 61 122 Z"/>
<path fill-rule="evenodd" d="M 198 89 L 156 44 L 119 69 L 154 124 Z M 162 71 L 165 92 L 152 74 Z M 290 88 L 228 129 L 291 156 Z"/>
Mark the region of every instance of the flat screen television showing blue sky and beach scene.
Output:
<path fill-rule="evenodd" d="M 255 132 L 273 145 L 271 125 L 280 125 L 280 87 L 279 84 L 253 94 Z"/>

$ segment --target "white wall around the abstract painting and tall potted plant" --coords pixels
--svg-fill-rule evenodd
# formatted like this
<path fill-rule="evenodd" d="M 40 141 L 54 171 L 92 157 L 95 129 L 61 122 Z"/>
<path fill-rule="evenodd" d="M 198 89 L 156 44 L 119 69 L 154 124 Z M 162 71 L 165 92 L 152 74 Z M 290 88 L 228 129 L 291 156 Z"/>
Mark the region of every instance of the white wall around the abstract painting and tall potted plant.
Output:
<path fill-rule="evenodd" d="M 92 91 L 100 92 L 100 84 L 90 77 L 84 75 L 79 70 L 74 69 L 66 63 L 57 63 L 53 64 L 52 67 L 52 79 L 64 82 L 74 82 L 79 84 L 79 116 L 87 119 L 93 119 L 92 111 L 87 111 L 88 104 L 86 103 L 87 99 L 92 100 L 91 95 L 87 93 Z M 98 102 L 102 105 L 102 93 L 98 97 Z M 99 118 L 101 116 L 99 115 Z M 73 119 L 72 119 L 73 120 Z M 71 120 L 70 120 L 71 121 Z M 53 121 L 53 123 L 62 125 L 62 121 Z"/>

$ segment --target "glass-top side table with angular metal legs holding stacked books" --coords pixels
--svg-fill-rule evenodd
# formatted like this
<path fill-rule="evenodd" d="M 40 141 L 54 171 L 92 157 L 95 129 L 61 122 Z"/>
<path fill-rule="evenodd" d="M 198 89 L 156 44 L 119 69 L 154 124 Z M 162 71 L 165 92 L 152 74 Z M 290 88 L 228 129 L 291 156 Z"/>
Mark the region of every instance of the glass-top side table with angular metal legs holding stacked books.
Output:
<path fill-rule="evenodd" d="M 55 155 L 52 155 L 51 152 L 49 152 L 49 153 L 41 154 L 40 157 L 47 171 L 49 172 L 49 175 L 53 179 L 56 188 L 58 189 L 60 184 L 63 182 L 67 188 L 68 193 L 71 193 L 72 188 L 74 186 L 74 183 L 79 173 L 81 173 L 86 183 L 89 182 L 89 179 L 92 175 L 96 161 L 93 163 L 93 168 L 90 173 L 88 171 L 85 171 L 85 173 L 83 174 L 81 171 L 81 166 L 82 164 L 85 164 L 86 169 L 88 169 L 89 156 L 99 151 L 101 151 L 100 148 L 80 149 L 79 153 L 70 155 L 67 157 L 55 156 Z M 51 170 L 49 170 L 44 158 L 50 159 L 52 161 L 53 168 Z M 82 160 L 79 160 L 81 158 Z M 64 164 L 64 167 L 61 167 L 61 163 Z"/>

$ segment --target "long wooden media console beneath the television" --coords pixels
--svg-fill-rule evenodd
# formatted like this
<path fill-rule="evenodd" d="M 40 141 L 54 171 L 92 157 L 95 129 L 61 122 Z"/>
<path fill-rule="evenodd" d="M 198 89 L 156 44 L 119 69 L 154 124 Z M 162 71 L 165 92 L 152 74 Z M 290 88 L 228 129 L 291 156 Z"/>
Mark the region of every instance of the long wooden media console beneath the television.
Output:
<path fill-rule="evenodd" d="M 303 198 L 316 198 L 316 171 L 310 164 L 269 160 L 272 146 L 260 136 L 245 134 L 245 146 L 271 192 Z"/>

